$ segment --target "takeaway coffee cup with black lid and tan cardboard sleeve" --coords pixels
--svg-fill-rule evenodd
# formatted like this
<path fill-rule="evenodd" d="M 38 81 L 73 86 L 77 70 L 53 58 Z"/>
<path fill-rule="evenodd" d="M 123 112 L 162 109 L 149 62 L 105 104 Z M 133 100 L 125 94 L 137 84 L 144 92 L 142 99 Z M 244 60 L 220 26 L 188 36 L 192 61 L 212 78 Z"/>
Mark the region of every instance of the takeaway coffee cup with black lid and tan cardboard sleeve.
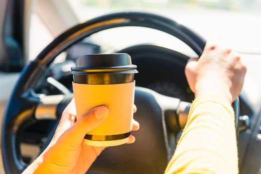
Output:
<path fill-rule="evenodd" d="M 134 103 L 134 74 L 128 54 L 90 54 L 76 60 L 71 68 L 77 115 L 105 105 L 106 120 L 84 142 L 90 146 L 117 146 L 129 141 Z"/>

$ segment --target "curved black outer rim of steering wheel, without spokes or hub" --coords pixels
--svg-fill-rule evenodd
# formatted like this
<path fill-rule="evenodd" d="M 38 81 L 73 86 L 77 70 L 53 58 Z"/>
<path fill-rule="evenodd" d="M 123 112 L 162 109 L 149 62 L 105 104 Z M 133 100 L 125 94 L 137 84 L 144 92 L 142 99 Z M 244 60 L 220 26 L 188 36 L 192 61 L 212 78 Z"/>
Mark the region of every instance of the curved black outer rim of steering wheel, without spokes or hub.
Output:
<path fill-rule="evenodd" d="M 21 173 L 25 168 L 24 163 L 17 155 L 20 153 L 20 150 L 17 150 L 19 148 L 16 147 L 17 125 L 22 124 L 24 120 L 34 114 L 39 103 L 39 96 L 33 90 L 44 77 L 46 67 L 51 64 L 57 55 L 73 43 L 99 31 L 122 26 L 141 26 L 166 32 L 187 44 L 199 56 L 206 44 L 201 36 L 182 24 L 160 15 L 144 12 L 107 14 L 65 31 L 23 69 L 8 100 L 1 134 L 2 157 L 6 173 Z"/>

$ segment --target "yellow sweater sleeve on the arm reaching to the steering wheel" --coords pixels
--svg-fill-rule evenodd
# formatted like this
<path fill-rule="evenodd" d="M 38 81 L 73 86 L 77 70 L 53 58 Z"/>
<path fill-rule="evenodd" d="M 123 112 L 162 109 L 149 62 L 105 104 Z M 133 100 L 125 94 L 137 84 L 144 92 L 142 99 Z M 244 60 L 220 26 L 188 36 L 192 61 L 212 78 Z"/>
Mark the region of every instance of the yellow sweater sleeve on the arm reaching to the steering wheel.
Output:
<path fill-rule="evenodd" d="M 214 95 L 195 99 L 165 174 L 237 174 L 234 111 Z"/>

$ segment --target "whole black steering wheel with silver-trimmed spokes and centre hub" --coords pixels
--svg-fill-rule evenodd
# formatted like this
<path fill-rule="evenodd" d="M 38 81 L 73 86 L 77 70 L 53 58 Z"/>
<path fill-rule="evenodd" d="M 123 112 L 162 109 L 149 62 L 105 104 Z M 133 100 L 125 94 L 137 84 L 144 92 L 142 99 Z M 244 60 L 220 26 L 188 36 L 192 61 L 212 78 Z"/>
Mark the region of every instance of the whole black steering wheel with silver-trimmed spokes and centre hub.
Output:
<path fill-rule="evenodd" d="M 22 160 L 20 152 L 19 140 L 23 128 L 37 120 L 57 119 L 58 122 L 64 107 L 73 97 L 66 87 L 55 80 L 50 80 L 49 83 L 57 87 L 62 94 L 36 93 L 37 89 L 41 87 L 41 81 L 46 78 L 47 68 L 55 57 L 73 43 L 87 36 L 122 26 L 140 26 L 166 32 L 183 41 L 198 56 L 202 54 L 206 44 L 201 36 L 187 27 L 169 18 L 144 12 L 108 14 L 67 30 L 23 69 L 9 98 L 1 132 L 2 158 L 6 174 L 20 174 L 28 165 Z M 133 133 L 136 142 L 132 145 L 107 148 L 88 173 L 163 173 L 175 147 L 175 134 L 186 123 L 190 103 L 141 87 L 135 89 L 134 102 L 138 107 L 135 117 L 140 123 L 140 130 Z M 238 103 L 236 106 L 238 109 Z M 55 126 L 53 130 L 55 130 Z M 49 140 L 52 133 L 49 135 Z M 43 146 L 42 149 L 45 147 Z"/>

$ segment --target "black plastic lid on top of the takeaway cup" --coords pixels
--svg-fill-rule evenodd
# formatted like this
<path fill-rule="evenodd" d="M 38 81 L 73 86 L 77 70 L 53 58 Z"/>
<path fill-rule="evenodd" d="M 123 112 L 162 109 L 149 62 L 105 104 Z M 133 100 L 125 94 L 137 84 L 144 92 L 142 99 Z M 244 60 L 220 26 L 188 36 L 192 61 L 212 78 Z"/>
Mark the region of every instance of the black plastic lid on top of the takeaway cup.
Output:
<path fill-rule="evenodd" d="M 87 54 L 76 60 L 71 74 L 137 73 L 129 54 Z"/>

